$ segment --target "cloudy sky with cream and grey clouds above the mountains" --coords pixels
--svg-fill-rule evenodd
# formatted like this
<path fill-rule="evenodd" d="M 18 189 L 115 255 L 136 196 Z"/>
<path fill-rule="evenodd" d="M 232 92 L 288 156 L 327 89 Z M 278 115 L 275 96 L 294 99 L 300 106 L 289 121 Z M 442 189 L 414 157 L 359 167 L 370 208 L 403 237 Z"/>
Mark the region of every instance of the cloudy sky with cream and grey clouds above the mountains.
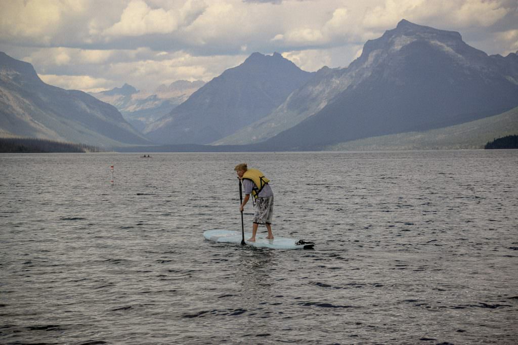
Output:
<path fill-rule="evenodd" d="M 64 89 L 154 91 L 205 80 L 253 52 L 347 67 L 401 19 L 518 50 L 517 0 L 0 0 L 0 51 Z"/>

